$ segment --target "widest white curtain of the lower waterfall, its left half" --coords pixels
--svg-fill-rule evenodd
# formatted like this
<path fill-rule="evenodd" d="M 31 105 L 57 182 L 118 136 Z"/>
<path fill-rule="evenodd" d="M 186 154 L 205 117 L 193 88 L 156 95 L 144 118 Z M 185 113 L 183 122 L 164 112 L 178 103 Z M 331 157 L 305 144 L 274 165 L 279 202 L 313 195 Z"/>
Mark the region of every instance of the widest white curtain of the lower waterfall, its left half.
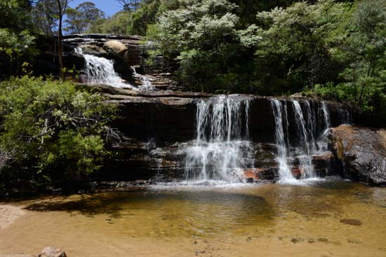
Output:
<path fill-rule="evenodd" d="M 244 171 L 253 167 L 248 140 L 250 101 L 222 95 L 197 103 L 197 138 L 186 148 L 188 181 L 244 181 Z"/>

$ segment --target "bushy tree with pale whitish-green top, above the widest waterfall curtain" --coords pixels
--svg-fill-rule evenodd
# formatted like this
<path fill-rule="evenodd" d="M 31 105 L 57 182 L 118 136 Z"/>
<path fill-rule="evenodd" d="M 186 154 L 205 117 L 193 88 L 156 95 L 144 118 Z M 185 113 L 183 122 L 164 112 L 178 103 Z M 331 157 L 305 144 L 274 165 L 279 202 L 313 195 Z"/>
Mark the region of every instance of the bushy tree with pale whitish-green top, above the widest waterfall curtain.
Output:
<path fill-rule="evenodd" d="M 180 78 L 192 89 L 228 90 L 229 60 L 237 54 L 234 4 L 227 0 L 179 1 L 180 7 L 166 11 L 152 28 L 161 53 L 178 61 Z M 228 64 L 230 64 L 228 66 Z M 223 79 L 222 79 L 223 78 Z M 208 83 L 212 81 L 212 85 Z"/>

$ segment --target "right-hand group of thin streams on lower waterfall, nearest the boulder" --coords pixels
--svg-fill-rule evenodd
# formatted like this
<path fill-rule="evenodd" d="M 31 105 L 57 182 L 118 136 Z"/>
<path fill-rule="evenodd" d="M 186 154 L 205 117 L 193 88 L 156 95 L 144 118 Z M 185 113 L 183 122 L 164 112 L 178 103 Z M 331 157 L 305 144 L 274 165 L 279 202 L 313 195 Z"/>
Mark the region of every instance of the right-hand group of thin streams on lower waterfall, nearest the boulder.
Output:
<path fill-rule="evenodd" d="M 330 127 L 330 118 L 325 102 L 319 108 L 313 102 L 304 102 L 304 111 L 298 101 L 291 101 L 296 143 L 289 144 L 288 114 L 286 102 L 271 99 L 272 112 L 275 122 L 275 143 L 277 145 L 277 163 L 279 165 L 280 181 L 294 179 L 290 161 L 298 161 L 298 169 L 302 179 L 315 176 L 312 155 L 324 153 L 327 150 L 327 134 Z M 284 132 L 286 128 L 286 133 Z M 291 149 L 293 148 L 293 151 Z"/>

